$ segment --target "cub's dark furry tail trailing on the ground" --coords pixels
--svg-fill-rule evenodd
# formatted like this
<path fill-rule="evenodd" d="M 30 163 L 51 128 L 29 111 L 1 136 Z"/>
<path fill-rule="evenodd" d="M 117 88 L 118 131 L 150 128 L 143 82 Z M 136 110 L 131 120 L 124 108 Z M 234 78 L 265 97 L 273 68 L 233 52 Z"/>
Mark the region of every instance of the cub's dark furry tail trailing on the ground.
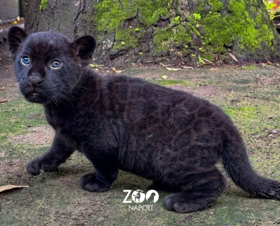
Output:
<path fill-rule="evenodd" d="M 234 127 L 224 143 L 222 160 L 234 183 L 258 197 L 280 200 L 280 183 L 258 175 L 251 167 L 242 138 Z M 234 136 L 232 136 L 234 135 Z"/>

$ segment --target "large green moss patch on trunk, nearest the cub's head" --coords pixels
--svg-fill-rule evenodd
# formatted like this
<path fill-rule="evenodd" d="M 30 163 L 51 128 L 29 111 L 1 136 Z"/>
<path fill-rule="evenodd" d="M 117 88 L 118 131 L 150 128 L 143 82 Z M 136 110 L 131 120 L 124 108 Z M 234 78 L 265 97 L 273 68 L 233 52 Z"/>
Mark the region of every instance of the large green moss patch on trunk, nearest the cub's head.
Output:
<path fill-rule="evenodd" d="M 129 49 L 138 45 L 145 33 L 145 27 L 156 24 L 160 17 L 170 17 L 170 0 L 104 0 L 95 5 L 96 15 L 93 20 L 98 31 L 114 32 L 114 49 Z M 140 22 L 138 27 L 126 27 L 125 22 L 136 17 Z"/>

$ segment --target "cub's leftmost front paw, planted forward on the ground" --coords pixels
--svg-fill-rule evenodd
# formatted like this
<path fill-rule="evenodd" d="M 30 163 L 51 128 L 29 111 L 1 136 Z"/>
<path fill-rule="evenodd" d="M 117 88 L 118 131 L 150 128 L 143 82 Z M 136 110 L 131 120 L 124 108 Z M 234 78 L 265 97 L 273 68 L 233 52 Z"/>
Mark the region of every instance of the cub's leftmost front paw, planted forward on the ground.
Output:
<path fill-rule="evenodd" d="M 44 157 L 38 157 L 27 164 L 27 172 L 32 175 L 40 174 L 40 171 L 53 171 L 58 165 L 55 161 L 47 160 Z"/>

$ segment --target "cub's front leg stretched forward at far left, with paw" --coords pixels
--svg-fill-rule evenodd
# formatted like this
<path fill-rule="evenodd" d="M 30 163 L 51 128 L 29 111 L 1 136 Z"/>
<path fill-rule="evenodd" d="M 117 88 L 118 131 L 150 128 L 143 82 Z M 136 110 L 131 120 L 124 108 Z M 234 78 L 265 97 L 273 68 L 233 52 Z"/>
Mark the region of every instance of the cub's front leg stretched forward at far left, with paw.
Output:
<path fill-rule="evenodd" d="M 61 163 L 65 162 L 74 150 L 74 148 L 69 146 L 56 134 L 50 150 L 45 155 L 37 157 L 29 162 L 27 164 L 27 172 L 32 175 L 38 175 L 41 170 L 53 171 L 57 169 Z"/>

